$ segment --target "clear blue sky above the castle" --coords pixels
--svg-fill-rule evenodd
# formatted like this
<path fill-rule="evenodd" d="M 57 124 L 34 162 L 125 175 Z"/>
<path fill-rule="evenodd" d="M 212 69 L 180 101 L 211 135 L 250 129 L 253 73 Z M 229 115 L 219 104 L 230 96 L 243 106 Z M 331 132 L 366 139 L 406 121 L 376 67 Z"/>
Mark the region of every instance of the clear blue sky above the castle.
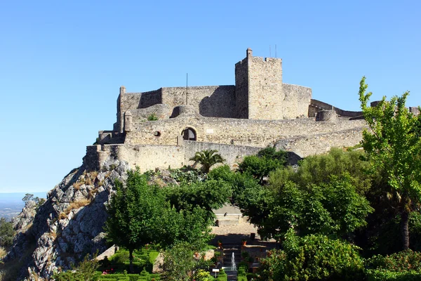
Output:
<path fill-rule="evenodd" d="M 119 86 L 234 84 L 277 46 L 283 81 L 359 110 L 410 90 L 421 105 L 420 1 L 1 1 L 0 192 L 47 191 L 112 129 Z"/>

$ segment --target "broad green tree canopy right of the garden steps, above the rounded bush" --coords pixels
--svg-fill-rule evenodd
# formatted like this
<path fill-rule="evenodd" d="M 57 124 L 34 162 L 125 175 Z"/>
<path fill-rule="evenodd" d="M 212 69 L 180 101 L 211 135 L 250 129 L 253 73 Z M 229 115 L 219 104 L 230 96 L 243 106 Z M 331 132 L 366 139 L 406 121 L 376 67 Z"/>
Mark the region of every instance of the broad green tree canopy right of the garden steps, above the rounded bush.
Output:
<path fill-rule="evenodd" d="M 373 211 L 352 186 L 349 176 L 302 188 L 292 181 L 279 187 L 246 190 L 239 197 L 243 214 L 258 226 L 262 237 L 280 239 L 290 228 L 299 235 L 321 233 L 349 237 L 366 226 Z"/>

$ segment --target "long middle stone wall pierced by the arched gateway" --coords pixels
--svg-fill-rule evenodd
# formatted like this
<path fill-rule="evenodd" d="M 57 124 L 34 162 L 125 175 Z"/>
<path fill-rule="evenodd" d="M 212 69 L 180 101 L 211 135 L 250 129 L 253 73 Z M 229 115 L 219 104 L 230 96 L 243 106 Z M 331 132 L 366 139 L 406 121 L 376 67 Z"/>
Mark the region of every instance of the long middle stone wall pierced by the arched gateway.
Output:
<path fill-rule="evenodd" d="M 194 118 L 180 115 L 174 119 L 135 124 L 135 129 L 126 134 L 126 143 L 131 144 L 177 144 L 177 136 L 186 127 L 197 133 L 197 141 L 266 147 L 281 138 L 309 136 L 354 129 L 365 125 L 363 120 L 337 122 L 315 122 L 314 119 L 249 120 Z M 154 136 L 159 131 L 160 136 Z M 356 143 L 354 143 L 355 145 Z"/>

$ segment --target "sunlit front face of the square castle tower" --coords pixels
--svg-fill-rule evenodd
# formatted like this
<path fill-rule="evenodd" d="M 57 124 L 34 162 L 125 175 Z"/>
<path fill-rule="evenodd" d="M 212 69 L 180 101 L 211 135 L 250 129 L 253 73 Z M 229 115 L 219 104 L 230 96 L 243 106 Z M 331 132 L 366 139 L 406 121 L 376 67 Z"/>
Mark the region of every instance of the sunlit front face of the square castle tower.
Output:
<path fill-rule="evenodd" d="M 248 57 L 248 118 L 295 118 L 286 111 L 280 58 Z"/>

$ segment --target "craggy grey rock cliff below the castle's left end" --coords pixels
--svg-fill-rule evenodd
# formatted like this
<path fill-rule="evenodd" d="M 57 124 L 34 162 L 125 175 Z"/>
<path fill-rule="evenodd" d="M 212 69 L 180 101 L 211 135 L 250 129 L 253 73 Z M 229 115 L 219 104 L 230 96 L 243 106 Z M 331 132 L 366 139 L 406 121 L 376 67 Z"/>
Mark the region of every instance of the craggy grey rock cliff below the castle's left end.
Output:
<path fill-rule="evenodd" d="M 48 279 L 55 270 L 69 268 L 86 254 L 107 249 L 105 206 L 115 181 L 126 181 L 127 169 L 126 162 L 116 159 L 108 159 L 101 171 L 81 166 L 48 192 L 38 209 L 27 204 L 14 220 L 18 235 L 6 257 L 6 261 L 18 259 L 24 264 L 19 280 L 33 280 L 35 275 Z"/>

